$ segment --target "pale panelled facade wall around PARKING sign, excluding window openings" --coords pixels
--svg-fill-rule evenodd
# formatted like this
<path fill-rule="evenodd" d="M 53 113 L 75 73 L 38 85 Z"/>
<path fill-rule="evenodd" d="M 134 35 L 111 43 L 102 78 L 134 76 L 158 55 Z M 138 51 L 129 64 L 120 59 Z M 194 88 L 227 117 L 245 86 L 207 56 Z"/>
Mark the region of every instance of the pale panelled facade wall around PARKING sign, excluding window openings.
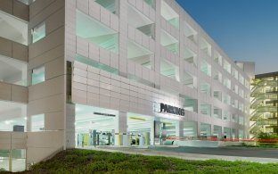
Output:
<path fill-rule="evenodd" d="M 69 35 L 66 37 L 67 59 L 73 62 L 73 103 L 109 108 L 120 112 L 139 113 L 155 118 L 184 122 L 196 121 L 199 125 L 197 136 L 201 135 L 200 123 L 206 123 L 211 128 L 207 136 L 213 136 L 214 126 L 218 126 L 222 128 L 220 137 L 225 134 L 231 138 L 249 137 L 247 114 L 249 112 L 249 77 L 175 1 L 156 1 L 155 9 L 144 1 L 120 1 L 119 14 L 109 12 L 101 4 L 92 1 L 69 1 L 67 4 L 70 10 L 66 15 L 66 24 L 73 26 L 66 29 L 66 35 Z M 178 15 L 178 28 L 162 17 L 161 8 L 165 6 Z M 119 33 L 119 54 L 96 46 L 86 37 L 77 37 L 74 25 L 77 22 L 76 12 L 72 9 L 77 9 L 83 15 Z M 130 9 L 148 18 L 155 25 L 156 37 L 154 39 L 146 36 L 141 30 L 135 29 L 135 24 L 128 19 L 132 16 L 129 13 Z M 67 18 L 67 16 L 70 17 Z M 192 30 L 195 42 L 190 39 L 192 36 L 185 36 L 184 33 L 190 32 L 186 29 Z M 176 39 L 177 53 L 161 45 L 160 39 L 165 39 L 160 37 L 161 33 L 167 33 L 173 37 L 171 39 Z M 131 42 L 153 53 L 150 56 L 150 67 L 145 67 L 128 58 L 128 49 L 130 49 L 128 45 Z M 204 49 L 209 50 L 208 54 Z M 185 54 L 189 52 L 193 56 L 192 62 L 186 60 Z M 76 54 L 119 70 L 119 74 L 115 75 L 85 63 L 72 61 Z M 176 67 L 177 75 L 175 76 L 178 78 L 169 78 L 160 73 L 162 60 Z M 202 66 L 204 69 L 209 69 L 208 72 L 203 72 Z M 136 77 L 138 80 L 130 77 Z M 189 77 L 192 77 L 194 87 L 186 84 L 186 80 L 191 80 Z M 140 82 L 140 79 L 143 80 Z M 203 84 L 208 84 L 208 91 L 202 91 Z M 217 92 L 222 95 L 219 99 L 214 96 Z M 228 101 L 225 101 L 227 104 L 224 102 L 224 95 L 228 95 Z M 185 116 L 175 116 L 155 111 L 154 107 L 159 107 L 157 105 L 160 103 L 184 108 L 186 97 L 198 101 L 195 112 L 185 110 Z M 206 114 L 202 114 L 201 104 L 210 107 Z M 215 112 L 220 113 L 221 118 L 214 117 L 214 109 Z M 225 120 L 224 112 L 227 114 Z M 225 133 L 224 128 L 229 128 L 229 132 Z M 181 134 L 176 133 L 176 135 Z"/>

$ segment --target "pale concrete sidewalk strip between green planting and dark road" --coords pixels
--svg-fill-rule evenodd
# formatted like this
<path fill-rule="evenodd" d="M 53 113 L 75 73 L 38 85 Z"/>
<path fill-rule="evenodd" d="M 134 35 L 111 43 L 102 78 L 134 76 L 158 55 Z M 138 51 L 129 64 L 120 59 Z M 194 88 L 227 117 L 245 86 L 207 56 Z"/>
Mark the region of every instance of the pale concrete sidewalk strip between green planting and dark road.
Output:
<path fill-rule="evenodd" d="M 173 147 L 169 147 L 173 148 Z M 197 153 L 175 153 L 166 151 L 155 151 L 148 148 L 140 147 L 114 147 L 114 146 L 97 146 L 93 148 L 86 148 L 98 151 L 106 151 L 111 153 L 127 153 L 127 154 L 142 154 L 150 156 L 166 156 L 175 157 L 184 160 L 225 160 L 225 161 L 242 161 L 242 162 L 259 162 L 259 163 L 269 163 L 278 162 L 278 159 L 274 158 L 258 158 L 258 157 L 241 157 L 241 156 L 225 156 L 225 155 L 211 155 L 211 154 L 197 154 Z"/>

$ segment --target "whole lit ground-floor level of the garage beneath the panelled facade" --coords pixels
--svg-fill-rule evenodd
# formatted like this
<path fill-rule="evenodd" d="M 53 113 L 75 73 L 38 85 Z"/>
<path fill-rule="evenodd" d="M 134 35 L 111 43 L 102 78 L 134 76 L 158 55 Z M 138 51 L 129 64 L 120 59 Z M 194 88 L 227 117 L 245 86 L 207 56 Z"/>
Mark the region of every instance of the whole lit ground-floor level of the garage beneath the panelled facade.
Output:
<path fill-rule="evenodd" d="M 242 137 L 242 130 L 172 118 L 76 104 L 75 146 L 173 145 L 175 141 Z"/>

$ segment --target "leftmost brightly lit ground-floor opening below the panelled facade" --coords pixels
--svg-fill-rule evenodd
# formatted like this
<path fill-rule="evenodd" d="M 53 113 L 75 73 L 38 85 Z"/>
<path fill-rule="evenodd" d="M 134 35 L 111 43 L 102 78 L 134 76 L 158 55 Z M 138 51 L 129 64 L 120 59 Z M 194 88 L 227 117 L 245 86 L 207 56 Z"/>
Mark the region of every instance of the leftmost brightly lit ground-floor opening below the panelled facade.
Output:
<path fill-rule="evenodd" d="M 76 146 L 114 145 L 117 114 L 109 109 L 76 104 Z"/>

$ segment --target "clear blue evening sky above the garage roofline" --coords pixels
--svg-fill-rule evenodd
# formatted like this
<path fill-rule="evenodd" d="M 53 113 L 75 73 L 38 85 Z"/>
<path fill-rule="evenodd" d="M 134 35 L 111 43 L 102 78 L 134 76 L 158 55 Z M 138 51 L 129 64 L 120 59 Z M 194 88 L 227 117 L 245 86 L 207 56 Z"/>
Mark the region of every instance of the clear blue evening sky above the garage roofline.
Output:
<path fill-rule="evenodd" d="M 176 0 L 234 61 L 278 71 L 278 0 Z"/>

